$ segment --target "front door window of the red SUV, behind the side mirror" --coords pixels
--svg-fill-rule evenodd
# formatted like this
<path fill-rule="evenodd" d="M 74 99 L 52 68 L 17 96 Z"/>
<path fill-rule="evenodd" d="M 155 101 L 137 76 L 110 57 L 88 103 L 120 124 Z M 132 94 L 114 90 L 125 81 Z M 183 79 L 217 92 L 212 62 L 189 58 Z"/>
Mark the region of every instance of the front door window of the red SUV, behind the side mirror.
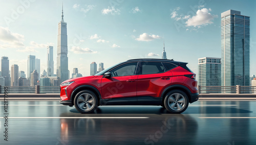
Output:
<path fill-rule="evenodd" d="M 137 68 L 137 62 L 136 63 L 127 63 L 124 65 L 121 65 L 113 70 L 111 70 L 111 76 L 127 76 L 127 75 L 135 75 L 136 68 Z"/>

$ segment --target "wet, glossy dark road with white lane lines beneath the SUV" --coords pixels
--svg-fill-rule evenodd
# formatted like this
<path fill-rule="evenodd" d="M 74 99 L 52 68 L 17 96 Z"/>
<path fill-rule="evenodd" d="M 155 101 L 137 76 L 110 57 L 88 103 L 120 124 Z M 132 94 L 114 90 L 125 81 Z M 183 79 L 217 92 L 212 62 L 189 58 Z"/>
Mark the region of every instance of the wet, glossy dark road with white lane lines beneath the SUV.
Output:
<path fill-rule="evenodd" d="M 197 101 L 181 114 L 161 106 L 100 106 L 92 114 L 58 101 L 0 101 L 0 144 L 256 144 L 256 101 Z"/>

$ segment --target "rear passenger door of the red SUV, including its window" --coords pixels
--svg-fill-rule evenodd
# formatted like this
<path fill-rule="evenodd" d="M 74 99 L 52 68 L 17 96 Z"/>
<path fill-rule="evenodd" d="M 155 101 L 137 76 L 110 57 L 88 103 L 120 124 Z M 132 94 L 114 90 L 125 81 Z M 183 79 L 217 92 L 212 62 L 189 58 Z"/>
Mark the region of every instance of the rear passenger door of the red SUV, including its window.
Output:
<path fill-rule="evenodd" d="M 141 62 L 137 83 L 138 101 L 160 97 L 164 87 L 172 82 L 172 72 L 167 71 L 161 62 Z"/>

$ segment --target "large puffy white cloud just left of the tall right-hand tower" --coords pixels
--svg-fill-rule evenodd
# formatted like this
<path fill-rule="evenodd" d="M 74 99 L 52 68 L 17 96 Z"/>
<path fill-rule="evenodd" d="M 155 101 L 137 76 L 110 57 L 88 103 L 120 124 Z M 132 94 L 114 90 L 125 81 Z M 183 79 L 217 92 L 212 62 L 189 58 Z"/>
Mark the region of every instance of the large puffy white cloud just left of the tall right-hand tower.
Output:
<path fill-rule="evenodd" d="M 209 12 L 211 9 L 203 8 L 197 11 L 197 14 L 186 21 L 186 26 L 200 27 L 201 25 L 207 25 L 213 23 L 212 20 L 217 18 L 218 15 L 212 15 Z"/>

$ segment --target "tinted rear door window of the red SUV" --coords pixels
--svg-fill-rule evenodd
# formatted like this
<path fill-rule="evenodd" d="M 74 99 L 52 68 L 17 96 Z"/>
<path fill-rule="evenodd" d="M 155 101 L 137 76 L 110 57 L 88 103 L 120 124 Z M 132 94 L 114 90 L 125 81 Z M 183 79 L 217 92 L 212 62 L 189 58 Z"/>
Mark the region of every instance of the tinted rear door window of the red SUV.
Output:
<path fill-rule="evenodd" d="M 164 71 L 165 68 L 160 62 L 142 62 L 140 74 L 163 73 Z"/>

